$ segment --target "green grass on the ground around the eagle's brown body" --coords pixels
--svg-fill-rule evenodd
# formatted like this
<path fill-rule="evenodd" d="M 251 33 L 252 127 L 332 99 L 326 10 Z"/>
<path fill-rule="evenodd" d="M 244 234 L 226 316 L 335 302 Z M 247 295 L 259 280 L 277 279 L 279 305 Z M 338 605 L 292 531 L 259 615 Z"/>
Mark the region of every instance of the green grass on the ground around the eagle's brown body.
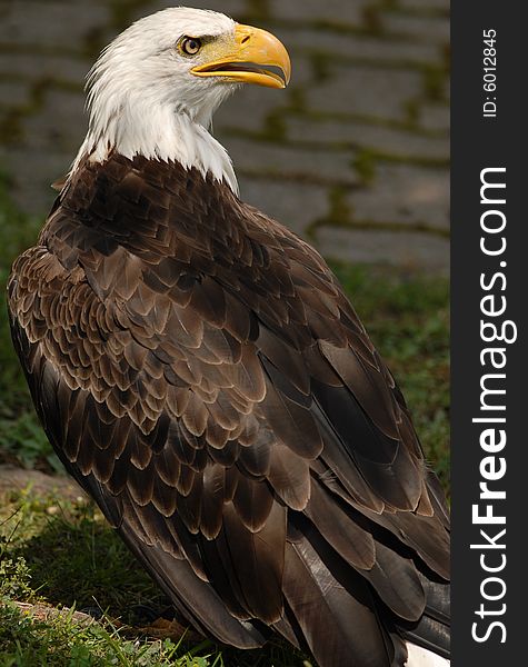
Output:
<path fill-rule="evenodd" d="M 0 462 L 52 471 L 58 462 L 30 405 L 8 331 L 4 285 L 12 259 L 32 245 L 41 220 L 23 216 L 0 180 Z M 333 266 L 370 337 L 396 376 L 431 466 L 449 487 L 448 282 L 376 267 Z M 82 609 L 36 619 L 13 600 Z M 141 609 L 167 600 L 91 504 L 68 505 L 30 490 L 0 498 L 0 665 L 301 667 L 306 659 L 272 644 L 221 650 L 209 641 L 143 636 Z M 119 623 L 118 623 L 119 621 Z M 126 624 L 121 627 L 120 624 Z M 119 629 L 117 626 L 119 625 Z M 143 624 L 145 625 L 145 624 Z M 136 629 L 131 629 L 136 628 Z"/>

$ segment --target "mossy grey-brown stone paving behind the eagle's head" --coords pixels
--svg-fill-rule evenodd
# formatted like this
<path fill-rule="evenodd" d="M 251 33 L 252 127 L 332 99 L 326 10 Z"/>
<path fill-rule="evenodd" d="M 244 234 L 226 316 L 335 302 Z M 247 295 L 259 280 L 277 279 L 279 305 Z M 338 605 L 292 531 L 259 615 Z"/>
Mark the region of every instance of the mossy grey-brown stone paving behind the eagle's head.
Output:
<path fill-rule="evenodd" d="M 175 2 L 178 3 L 178 2 Z M 449 266 L 448 0 L 186 0 L 275 32 L 287 91 L 218 112 L 241 196 L 328 257 Z M 159 0 L 0 0 L 0 170 L 44 215 L 84 131 L 83 78 Z"/>

